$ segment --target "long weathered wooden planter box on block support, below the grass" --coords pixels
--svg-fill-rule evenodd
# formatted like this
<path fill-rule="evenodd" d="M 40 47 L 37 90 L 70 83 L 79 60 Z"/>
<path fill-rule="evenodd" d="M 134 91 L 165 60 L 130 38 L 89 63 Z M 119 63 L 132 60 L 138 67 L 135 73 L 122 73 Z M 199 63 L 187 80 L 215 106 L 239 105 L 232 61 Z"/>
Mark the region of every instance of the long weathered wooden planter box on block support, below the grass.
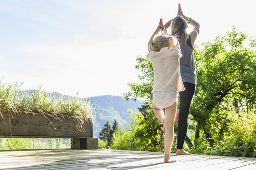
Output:
<path fill-rule="evenodd" d="M 71 138 L 71 149 L 98 149 L 93 138 L 93 122 L 77 116 L 50 114 L 15 114 L 3 111 L 0 137 Z"/>

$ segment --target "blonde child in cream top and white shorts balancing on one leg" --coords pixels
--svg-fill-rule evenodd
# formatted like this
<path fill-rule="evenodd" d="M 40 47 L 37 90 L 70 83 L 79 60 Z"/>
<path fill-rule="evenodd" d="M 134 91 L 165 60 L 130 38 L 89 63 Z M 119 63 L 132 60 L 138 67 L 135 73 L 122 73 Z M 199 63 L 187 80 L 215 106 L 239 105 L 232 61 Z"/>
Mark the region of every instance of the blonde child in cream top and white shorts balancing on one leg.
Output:
<path fill-rule="evenodd" d="M 157 36 L 160 31 L 164 35 Z M 148 42 L 148 59 L 152 62 L 153 83 L 153 111 L 163 124 L 164 162 L 170 160 L 170 152 L 174 138 L 174 120 L 177 110 L 177 92 L 185 90 L 180 74 L 181 49 L 177 39 L 164 29 L 162 19 Z M 162 109 L 165 108 L 165 117 Z"/>

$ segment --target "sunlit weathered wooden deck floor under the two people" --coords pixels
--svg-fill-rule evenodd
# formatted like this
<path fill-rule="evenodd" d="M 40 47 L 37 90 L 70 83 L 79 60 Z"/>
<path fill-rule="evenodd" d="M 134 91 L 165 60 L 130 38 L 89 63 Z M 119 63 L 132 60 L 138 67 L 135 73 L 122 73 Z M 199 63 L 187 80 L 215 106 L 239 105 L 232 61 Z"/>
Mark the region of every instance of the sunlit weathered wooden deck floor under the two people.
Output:
<path fill-rule="evenodd" d="M 0 151 L 0 169 L 256 169 L 256 158 L 175 155 L 163 163 L 163 153 L 124 150 Z"/>

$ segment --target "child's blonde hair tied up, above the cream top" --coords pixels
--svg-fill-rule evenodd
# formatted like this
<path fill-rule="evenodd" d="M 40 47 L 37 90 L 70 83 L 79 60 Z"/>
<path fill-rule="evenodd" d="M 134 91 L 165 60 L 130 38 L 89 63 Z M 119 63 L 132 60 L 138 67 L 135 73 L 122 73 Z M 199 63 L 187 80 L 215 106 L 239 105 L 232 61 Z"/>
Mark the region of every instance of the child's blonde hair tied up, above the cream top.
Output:
<path fill-rule="evenodd" d="M 169 39 L 171 40 L 169 41 Z M 151 51 L 160 51 L 162 48 L 168 47 L 169 44 L 171 48 L 175 47 L 177 39 L 172 35 L 159 35 L 153 39 L 153 43 L 148 48 Z"/>

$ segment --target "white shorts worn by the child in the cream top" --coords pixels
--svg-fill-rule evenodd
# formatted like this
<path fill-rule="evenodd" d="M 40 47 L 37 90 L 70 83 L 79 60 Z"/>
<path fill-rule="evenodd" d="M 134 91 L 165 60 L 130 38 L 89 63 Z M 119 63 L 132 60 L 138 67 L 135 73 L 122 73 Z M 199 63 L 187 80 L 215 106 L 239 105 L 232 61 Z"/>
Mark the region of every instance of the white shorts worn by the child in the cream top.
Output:
<path fill-rule="evenodd" d="M 177 91 L 153 92 L 153 104 L 159 109 L 164 109 L 177 101 L 177 96 Z"/>

